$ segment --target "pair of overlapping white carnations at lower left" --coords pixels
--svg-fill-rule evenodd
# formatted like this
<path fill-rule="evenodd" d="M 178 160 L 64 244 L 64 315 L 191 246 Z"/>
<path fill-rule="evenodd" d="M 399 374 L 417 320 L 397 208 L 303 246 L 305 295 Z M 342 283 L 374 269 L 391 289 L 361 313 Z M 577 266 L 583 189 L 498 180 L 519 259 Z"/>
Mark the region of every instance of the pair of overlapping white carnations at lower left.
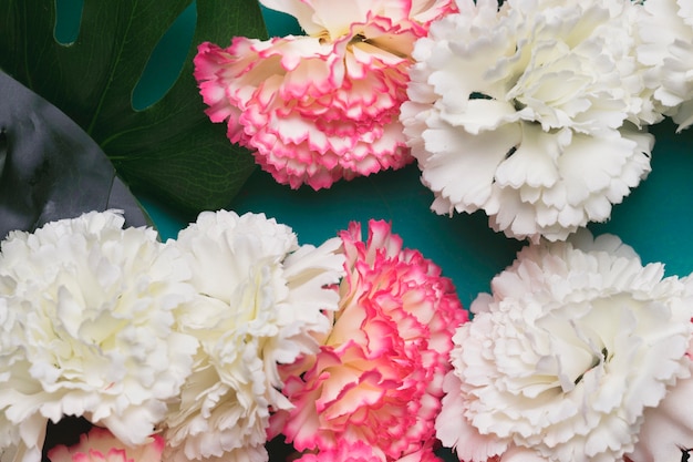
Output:
<path fill-rule="evenodd" d="M 164 456 L 266 460 L 279 363 L 314 352 L 344 257 L 263 215 L 203 213 L 178 240 L 114 212 L 14 232 L 0 249 L 0 450 L 41 460 L 64 415 Z M 240 451 L 241 454 L 236 454 Z"/>

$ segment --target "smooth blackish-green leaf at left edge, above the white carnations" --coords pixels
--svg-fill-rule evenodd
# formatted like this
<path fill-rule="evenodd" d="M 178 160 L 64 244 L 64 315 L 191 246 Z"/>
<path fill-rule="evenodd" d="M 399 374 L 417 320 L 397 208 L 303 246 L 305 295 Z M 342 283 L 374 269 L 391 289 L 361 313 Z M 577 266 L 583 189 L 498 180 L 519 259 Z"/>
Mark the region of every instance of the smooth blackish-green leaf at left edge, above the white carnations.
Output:
<path fill-rule="evenodd" d="M 146 224 L 105 154 L 55 106 L 0 72 L 0 238 L 89 211 Z"/>

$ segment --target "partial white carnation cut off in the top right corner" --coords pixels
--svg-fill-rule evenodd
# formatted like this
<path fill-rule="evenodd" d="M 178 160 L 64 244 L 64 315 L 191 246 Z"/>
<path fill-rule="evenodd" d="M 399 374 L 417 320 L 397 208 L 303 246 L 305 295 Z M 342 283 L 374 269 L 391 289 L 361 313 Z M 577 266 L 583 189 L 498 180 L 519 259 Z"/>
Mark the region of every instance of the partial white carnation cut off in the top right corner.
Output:
<path fill-rule="evenodd" d="M 693 3 L 648 0 L 643 8 L 638 59 L 652 66 L 654 97 L 681 131 L 693 124 Z"/>

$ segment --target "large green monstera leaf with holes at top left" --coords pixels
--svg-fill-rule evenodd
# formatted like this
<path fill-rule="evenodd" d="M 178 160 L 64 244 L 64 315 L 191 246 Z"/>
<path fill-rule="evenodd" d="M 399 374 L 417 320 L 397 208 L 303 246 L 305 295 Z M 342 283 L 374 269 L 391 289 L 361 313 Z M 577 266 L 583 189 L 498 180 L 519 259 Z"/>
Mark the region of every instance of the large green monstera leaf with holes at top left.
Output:
<path fill-rule="evenodd" d="M 265 38 L 257 0 L 84 0 L 69 45 L 54 38 L 55 3 L 0 2 L 0 69 L 82 126 L 133 191 L 190 215 L 226 206 L 254 162 L 204 114 L 193 57 L 203 41 Z M 162 100 L 135 110 L 133 90 L 149 55 L 190 4 L 196 28 L 177 80 Z"/>

